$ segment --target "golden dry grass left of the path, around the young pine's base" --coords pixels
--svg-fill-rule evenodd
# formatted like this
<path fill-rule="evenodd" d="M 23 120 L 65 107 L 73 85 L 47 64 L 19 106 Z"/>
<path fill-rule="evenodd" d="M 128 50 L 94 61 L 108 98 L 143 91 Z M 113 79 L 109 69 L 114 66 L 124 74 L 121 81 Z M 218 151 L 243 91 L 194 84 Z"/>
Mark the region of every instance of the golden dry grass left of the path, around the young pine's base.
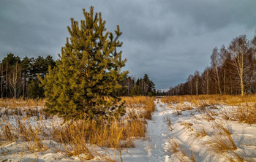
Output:
<path fill-rule="evenodd" d="M 91 144 L 113 148 L 114 152 L 119 152 L 121 159 L 121 148 L 135 147 L 136 138 L 145 138 L 146 118 L 151 119 L 155 109 L 154 98 L 140 96 L 123 100 L 129 103 L 129 107 L 139 108 L 139 105 L 143 111 L 129 111 L 127 117 L 109 120 L 69 120 L 61 125 L 52 120 L 51 127 L 46 128 L 41 123 L 44 123 L 49 116 L 38 108 L 43 107 L 43 101 L 1 99 L 1 107 L 4 107 L 4 111 L 0 113 L 1 143 L 24 142 L 26 149 L 34 153 L 48 150 L 49 147 L 43 143 L 43 140 L 50 139 L 62 145 L 62 149 L 53 148 L 53 150 L 64 152 L 67 156 L 83 155 L 79 156 L 81 161 L 94 158 L 95 155 L 101 156 L 106 161 L 116 161 L 113 160 L 112 155 L 106 157 L 91 150 Z M 16 123 L 10 123 L 10 116 L 16 119 Z M 32 124 L 30 119 L 34 116 L 37 121 L 33 121 Z"/>

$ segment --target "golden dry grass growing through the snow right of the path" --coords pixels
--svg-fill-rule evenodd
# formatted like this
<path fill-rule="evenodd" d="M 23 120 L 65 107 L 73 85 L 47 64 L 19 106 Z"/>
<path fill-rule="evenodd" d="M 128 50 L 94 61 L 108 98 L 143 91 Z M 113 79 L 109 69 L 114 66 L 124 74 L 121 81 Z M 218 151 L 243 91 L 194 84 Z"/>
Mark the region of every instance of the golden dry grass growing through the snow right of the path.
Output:
<path fill-rule="evenodd" d="M 240 151 L 236 146 L 232 138 L 231 128 L 225 126 L 222 121 L 217 123 L 215 118 L 224 117 L 227 122 L 228 120 L 236 120 L 242 123 L 255 124 L 256 123 L 256 95 L 245 95 L 245 96 L 228 96 L 228 95 L 199 95 L 199 96 L 170 96 L 162 98 L 162 102 L 167 104 L 176 104 L 174 109 L 181 112 L 183 109 L 187 109 L 186 105 L 189 103 L 192 107 L 197 107 L 195 111 L 203 114 L 203 117 L 214 123 L 212 128 L 214 128 L 214 134 L 203 140 L 207 140 L 204 144 L 208 145 L 209 150 L 216 154 L 224 155 L 227 158 L 227 161 L 255 161 L 252 158 L 249 158 L 246 153 Z M 183 102 L 188 102 L 184 103 Z M 179 104 L 177 104 L 179 103 Z M 218 107 L 228 106 L 228 109 L 222 109 L 219 112 L 216 112 L 214 109 L 219 109 Z M 182 113 L 182 112 L 181 112 Z M 209 136 L 206 132 L 207 130 L 203 126 L 195 130 L 192 128 L 192 125 L 183 122 L 181 123 L 184 128 L 189 131 L 193 131 L 194 135 L 200 138 L 204 136 Z M 181 161 L 184 161 L 185 153 L 179 148 L 178 144 L 170 144 L 170 150 L 172 153 L 178 153 L 181 151 Z M 194 153 L 192 153 L 192 157 Z M 192 158 L 190 158 L 192 159 Z"/>

